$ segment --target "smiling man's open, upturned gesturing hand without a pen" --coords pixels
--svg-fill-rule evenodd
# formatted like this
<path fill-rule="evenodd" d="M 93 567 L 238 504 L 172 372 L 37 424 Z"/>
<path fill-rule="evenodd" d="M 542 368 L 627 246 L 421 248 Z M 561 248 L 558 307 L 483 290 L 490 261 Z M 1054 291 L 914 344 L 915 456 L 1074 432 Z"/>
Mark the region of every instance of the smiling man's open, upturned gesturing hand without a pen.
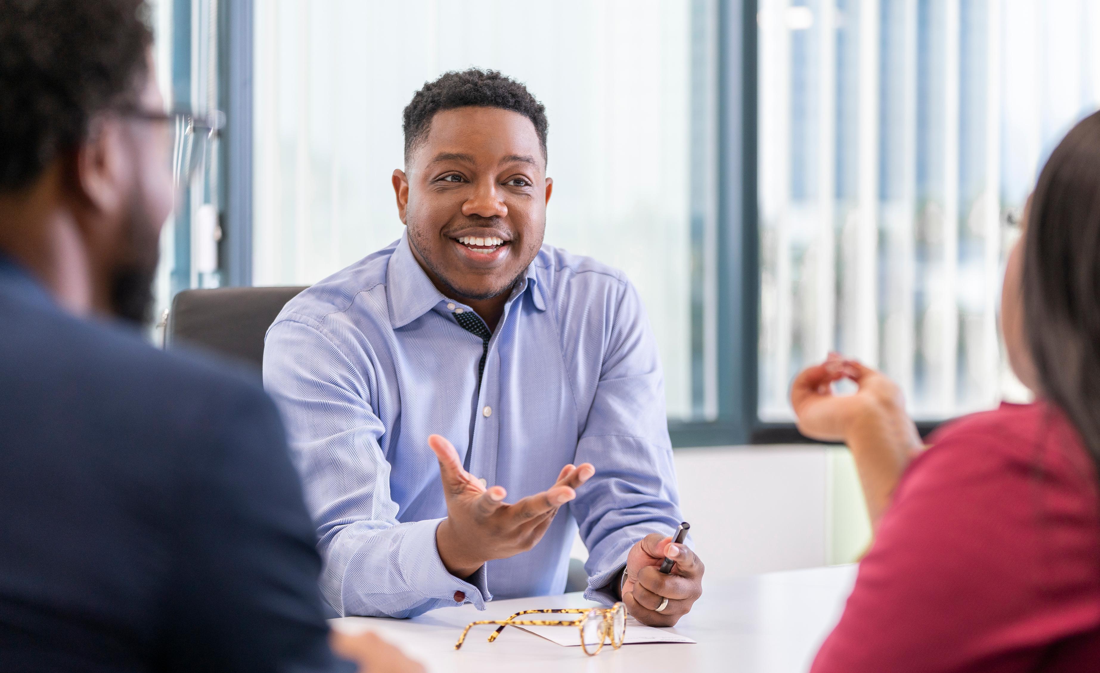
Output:
<path fill-rule="evenodd" d="M 565 465 L 551 488 L 508 505 L 503 487 L 486 488 L 463 470 L 451 442 L 432 434 L 428 445 L 439 460 L 447 499 L 447 519 L 436 530 L 436 545 L 443 565 L 457 577 L 469 577 L 486 561 L 507 559 L 535 547 L 558 509 L 575 498 L 574 489 L 595 474 L 588 463 Z"/>

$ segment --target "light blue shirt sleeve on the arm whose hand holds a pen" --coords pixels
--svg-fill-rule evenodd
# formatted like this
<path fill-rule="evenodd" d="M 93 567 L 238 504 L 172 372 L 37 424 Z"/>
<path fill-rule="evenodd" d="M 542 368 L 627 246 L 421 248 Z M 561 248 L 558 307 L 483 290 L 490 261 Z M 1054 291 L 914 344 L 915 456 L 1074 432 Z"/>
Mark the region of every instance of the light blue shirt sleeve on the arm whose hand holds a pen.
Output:
<path fill-rule="evenodd" d="M 604 602 L 614 599 L 608 584 L 635 542 L 672 534 L 681 521 L 657 341 L 634 286 L 622 288 L 576 446 L 576 463 L 596 473 L 571 504 L 588 549 L 585 596 Z"/>

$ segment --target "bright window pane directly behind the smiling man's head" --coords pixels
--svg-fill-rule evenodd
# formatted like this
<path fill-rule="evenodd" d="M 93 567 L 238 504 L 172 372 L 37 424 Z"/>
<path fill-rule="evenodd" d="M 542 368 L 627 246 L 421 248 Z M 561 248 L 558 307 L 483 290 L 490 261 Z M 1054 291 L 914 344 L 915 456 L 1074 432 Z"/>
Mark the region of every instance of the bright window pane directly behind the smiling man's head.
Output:
<path fill-rule="evenodd" d="M 402 234 L 402 110 L 493 68 L 547 106 L 547 242 L 624 269 L 669 416 L 717 413 L 716 0 L 255 3 L 253 282 L 311 284 Z"/>

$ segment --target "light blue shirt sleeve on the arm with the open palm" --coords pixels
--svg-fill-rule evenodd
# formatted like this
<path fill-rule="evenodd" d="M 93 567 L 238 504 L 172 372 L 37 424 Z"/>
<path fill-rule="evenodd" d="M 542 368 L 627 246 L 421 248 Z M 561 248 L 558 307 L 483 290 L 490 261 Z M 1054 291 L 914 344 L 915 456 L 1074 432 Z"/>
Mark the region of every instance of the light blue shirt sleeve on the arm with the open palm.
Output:
<path fill-rule="evenodd" d="M 283 413 L 317 527 L 321 594 L 340 616 L 415 617 L 463 602 L 484 609 L 485 567 L 463 581 L 439 558 L 442 519 L 397 520 L 370 377 L 307 317 L 284 317 L 267 332 L 264 387 Z"/>

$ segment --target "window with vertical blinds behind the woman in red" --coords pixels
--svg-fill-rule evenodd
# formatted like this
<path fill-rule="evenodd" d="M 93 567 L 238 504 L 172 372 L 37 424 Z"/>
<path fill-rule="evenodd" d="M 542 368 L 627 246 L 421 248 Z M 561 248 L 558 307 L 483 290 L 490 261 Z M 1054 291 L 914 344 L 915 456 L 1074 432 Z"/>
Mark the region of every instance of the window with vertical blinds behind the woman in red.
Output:
<path fill-rule="evenodd" d="M 1087 0 L 761 0 L 758 410 L 829 350 L 919 419 L 1024 393 L 998 306 L 1018 211 L 1100 107 Z"/>

